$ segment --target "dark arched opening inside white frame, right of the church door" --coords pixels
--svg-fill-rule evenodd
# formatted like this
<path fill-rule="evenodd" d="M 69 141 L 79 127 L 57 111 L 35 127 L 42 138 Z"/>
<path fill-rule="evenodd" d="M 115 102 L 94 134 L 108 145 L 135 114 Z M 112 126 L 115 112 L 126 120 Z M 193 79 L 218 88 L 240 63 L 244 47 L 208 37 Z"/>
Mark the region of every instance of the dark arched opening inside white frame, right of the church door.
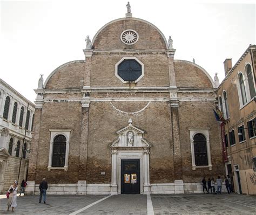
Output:
<path fill-rule="evenodd" d="M 203 134 L 194 135 L 194 161 L 197 166 L 208 165 L 206 138 Z"/>

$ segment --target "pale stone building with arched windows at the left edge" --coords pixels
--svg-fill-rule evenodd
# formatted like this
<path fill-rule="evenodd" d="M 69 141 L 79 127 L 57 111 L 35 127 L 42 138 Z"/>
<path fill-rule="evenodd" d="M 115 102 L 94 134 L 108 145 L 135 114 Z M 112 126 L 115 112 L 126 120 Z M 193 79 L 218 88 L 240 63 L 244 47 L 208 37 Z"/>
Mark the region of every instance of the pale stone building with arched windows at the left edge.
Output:
<path fill-rule="evenodd" d="M 34 113 L 35 105 L 0 79 L 0 193 L 28 175 Z"/>

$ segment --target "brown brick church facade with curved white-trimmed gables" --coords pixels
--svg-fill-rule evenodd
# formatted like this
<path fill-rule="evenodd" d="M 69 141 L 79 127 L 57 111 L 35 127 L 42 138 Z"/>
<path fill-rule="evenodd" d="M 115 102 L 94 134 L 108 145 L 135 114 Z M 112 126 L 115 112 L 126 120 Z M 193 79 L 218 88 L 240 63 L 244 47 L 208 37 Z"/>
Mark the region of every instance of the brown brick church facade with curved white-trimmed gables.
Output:
<path fill-rule="evenodd" d="M 83 51 L 39 80 L 27 193 L 43 177 L 52 194 L 199 193 L 225 175 L 215 84 L 171 37 L 127 11 Z"/>

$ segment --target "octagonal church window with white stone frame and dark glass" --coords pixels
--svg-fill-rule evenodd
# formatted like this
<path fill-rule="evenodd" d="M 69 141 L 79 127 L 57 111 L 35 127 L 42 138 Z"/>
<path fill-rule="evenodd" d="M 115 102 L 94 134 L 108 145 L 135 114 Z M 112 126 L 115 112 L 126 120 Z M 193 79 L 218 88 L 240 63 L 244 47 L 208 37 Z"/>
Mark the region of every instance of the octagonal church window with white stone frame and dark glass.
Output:
<path fill-rule="evenodd" d="M 143 75 L 144 65 L 137 58 L 123 58 L 116 64 L 116 76 L 124 83 L 138 82 Z"/>

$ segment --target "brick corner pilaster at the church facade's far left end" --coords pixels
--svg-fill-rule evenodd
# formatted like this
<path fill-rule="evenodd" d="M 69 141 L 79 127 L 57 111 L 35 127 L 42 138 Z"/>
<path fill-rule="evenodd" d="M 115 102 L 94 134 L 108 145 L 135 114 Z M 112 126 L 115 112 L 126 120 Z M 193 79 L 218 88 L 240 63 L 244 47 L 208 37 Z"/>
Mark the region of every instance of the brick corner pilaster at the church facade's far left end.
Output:
<path fill-rule="evenodd" d="M 36 108 L 35 110 L 35 118 L 34 118 L 34 130 L 31 141 L 31 152 L 29 159 L 29 173 L 28 173 L 28 185 L 26 186 L 26 193 L 28 195 L 35 193 L 35 181 L 36 178 L 36 164 L 37 164 L 37 156 L 38 156 L 38 145 L 39 145 L 39 134 L 41 129 L 42 122 L 42 107 Z M 39 179 L 38 179 L 39 180 Z M 37 181 L 38 181 L 37 180 Z"/>

